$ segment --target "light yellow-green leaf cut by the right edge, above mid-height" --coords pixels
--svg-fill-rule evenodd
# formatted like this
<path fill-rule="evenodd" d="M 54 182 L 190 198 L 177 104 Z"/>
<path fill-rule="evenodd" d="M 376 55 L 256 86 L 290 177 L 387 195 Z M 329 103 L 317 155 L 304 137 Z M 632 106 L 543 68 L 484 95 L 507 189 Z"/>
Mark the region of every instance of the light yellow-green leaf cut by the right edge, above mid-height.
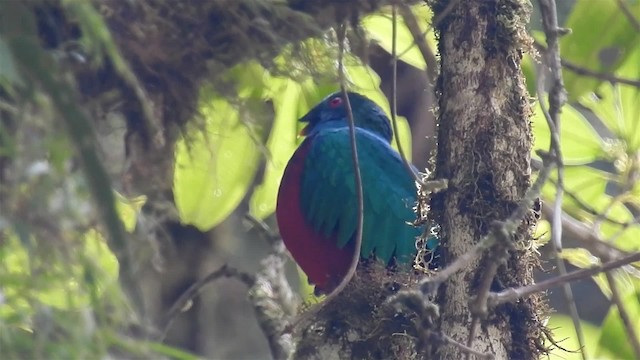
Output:
<path fill-rule="evenodd" d="M 640 2 L 639 2 L 640 3 Z M 640 15 L 639 15 L 640 16 Z M 638 38 L 640 42 L 640 38 Z M 640 79 L 640 47 L 618 69 L 616 74 L 629 79 Z M 597 95 L 590 94 L 580 103 L 594 114 L 627 144 L 629 153 L 640 150 L 640 89 L 631 85 L 604 83 Z"/>

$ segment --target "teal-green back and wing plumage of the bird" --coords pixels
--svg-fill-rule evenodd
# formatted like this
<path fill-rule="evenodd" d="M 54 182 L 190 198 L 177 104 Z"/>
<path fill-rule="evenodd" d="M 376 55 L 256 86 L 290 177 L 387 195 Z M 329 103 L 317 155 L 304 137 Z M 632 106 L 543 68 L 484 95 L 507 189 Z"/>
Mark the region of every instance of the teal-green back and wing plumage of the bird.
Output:
<path fill-rule="evenodd" d="M 415 219 L 416 187 L 400 156 L 385 140 L 356 129 L 364 224 L 360 255 L 410 263 L 421 229 Z M 317 134 L 304 162 L 301 210 L 310 226 L 344 247 L 356 235 L 357 196 L 348 128 Z"/>

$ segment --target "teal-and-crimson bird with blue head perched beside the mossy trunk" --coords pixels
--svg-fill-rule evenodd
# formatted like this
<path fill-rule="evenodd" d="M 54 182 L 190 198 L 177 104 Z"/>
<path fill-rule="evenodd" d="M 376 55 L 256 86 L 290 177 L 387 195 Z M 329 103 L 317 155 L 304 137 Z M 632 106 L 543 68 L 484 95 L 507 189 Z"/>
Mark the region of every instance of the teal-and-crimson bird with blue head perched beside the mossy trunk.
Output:
<path fill-rule="evenodd" d="M 393 132 L 384 110 L 359 93 L 347 96 L 363 190 L 360 259 L 410 266 L 417 252 L 416 238 L 424 230 L 411 224 L 416 218 L 414 175 L 391 147 Z M 349 270 L 358 222 L 343 93 L 327 96 L 299 121 L 307 123 L 301 131 L 305 139 L 285 167 L 276 220 L 286 248 L 315 292 L 326 294 Z"/>

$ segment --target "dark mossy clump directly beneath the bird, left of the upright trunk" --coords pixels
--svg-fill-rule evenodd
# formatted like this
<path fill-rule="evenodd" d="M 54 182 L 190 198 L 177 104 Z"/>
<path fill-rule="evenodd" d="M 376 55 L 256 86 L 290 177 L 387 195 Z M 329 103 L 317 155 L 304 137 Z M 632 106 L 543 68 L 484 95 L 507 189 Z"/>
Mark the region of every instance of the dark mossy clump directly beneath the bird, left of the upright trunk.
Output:
<path fill-rule="evenodd" d="M 334 348 L 354 359 L 417 358 L 415 316 L 396 313 L 385 303 L 417 279 L 413 272 L 391 272 L 377 263 L 359 267 L 335 300 L 299 325 L 302 341 L 295 357 L 320 358 L 326 356 L 323 349 Z"/>

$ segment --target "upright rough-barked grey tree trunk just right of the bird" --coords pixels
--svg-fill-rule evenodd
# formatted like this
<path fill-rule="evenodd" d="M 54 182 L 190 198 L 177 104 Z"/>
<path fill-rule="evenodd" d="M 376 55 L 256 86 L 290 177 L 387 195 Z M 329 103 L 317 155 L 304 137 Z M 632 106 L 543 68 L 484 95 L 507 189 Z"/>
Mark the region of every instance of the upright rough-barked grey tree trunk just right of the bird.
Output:
<path fill-rule="evenodd" d="M 496 220 L 505 220 L 530 185 L 531 128 L 529 97 L 520 62 L 528 50 L 523 0 L 439 1 L 433 4 L 440 36 L 441 73 L 437 86 L 439 130 L 436 177 L 448 179 L 446 192 L 434 197 L 442 227 L 443 263 L 468 252 Z M 448 8 L 452 5 L 452 8 Z M 536 256 L 530 249 L 531 212 L 512 236 L 515 249 L 500 265 L 492 290 L 533 281 Z M 440 330 L 467 343 L 477 295 L 487 265 L 500 261 L 494 251 L 456 273 L 441 287 Z M 542 335 L 539 299 L 510 304 L 481 321 L 472 348 L 497 359 L 538 357 Z M 460 359 L 453 346 L 436 358 Z"/>

